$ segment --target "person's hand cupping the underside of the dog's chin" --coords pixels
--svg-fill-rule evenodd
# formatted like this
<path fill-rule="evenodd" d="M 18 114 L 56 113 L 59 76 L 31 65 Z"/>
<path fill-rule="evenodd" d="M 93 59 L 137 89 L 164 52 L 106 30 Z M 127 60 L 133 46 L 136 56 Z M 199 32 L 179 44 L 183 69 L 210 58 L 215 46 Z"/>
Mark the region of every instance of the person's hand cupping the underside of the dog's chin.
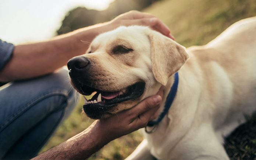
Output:
<path fill-rule="evenodd" d="M 163 88 L 160 88 L 157 95 L 148 97 L 131 109 L 121 111 L 110 118 L 96 120 L 91 127 L 97 130 L 94 133 L 99 133 L 100 141 L 107 144 L 116 138 L 145 127 L 147 122 L 156 119 L 162 97 Z"/>

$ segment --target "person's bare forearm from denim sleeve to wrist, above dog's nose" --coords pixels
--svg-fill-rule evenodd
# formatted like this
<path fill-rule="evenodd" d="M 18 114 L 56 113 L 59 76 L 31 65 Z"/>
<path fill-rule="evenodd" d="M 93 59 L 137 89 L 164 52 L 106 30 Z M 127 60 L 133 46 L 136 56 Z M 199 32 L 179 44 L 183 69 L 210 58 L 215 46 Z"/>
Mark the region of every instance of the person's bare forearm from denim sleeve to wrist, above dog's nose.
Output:
<path fill-rule="evenodd" d="M 15 46 L 13 57 L 0 72 L 1 81 L 27 79 L 51 73 L 88 49 L 104 25 L 99 24 L 57 36 L 45 42 Z"/>

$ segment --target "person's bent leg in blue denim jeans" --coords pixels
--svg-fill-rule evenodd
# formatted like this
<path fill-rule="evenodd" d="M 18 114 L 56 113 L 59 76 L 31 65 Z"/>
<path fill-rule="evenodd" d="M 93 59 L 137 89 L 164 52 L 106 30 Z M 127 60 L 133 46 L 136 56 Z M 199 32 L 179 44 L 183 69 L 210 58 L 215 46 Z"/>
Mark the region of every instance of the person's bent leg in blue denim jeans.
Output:
<path fill-rule="evenodd" d="M 75 106 L 68 71 L 0 87 L 0 159 L 31 159 Z"/>

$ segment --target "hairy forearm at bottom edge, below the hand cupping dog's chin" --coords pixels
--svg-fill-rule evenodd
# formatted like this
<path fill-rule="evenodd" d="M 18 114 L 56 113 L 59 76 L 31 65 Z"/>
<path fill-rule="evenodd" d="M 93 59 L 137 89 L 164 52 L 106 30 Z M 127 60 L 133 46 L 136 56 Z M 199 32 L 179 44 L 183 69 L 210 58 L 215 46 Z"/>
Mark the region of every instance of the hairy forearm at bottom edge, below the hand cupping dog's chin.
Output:
<path fill-rule="evenodd" d="M 107 144 L 95 128 L 94 123 L 80 134 L 33 159 L 86 159 Z"/>

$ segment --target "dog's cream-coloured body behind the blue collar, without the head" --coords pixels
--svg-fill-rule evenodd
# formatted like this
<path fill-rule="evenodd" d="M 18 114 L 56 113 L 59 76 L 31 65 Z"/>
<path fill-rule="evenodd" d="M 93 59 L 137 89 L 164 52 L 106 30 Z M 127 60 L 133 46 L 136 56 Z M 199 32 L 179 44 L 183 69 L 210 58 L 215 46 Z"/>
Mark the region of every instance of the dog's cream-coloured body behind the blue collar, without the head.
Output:
<path fill-rule="evenodd" d="M 163 159 L 228 159 L 223 136 L 256 110 L 256 18 L 239 21 L 207 45 L 189 47 L 187 52 L 190 59 L 178 71 L 179 93 L 169 112 L 172 122 L 165 129 L 168 138 L 161 142 L 171 150 L 167 153 L 156 142 L 159 138 L 146 135 L 154 147 L 151 151 Z M 192 108 L 194 115 L 188 111 Z M 188 122 L 191 125 L 184 129 Z"/>

